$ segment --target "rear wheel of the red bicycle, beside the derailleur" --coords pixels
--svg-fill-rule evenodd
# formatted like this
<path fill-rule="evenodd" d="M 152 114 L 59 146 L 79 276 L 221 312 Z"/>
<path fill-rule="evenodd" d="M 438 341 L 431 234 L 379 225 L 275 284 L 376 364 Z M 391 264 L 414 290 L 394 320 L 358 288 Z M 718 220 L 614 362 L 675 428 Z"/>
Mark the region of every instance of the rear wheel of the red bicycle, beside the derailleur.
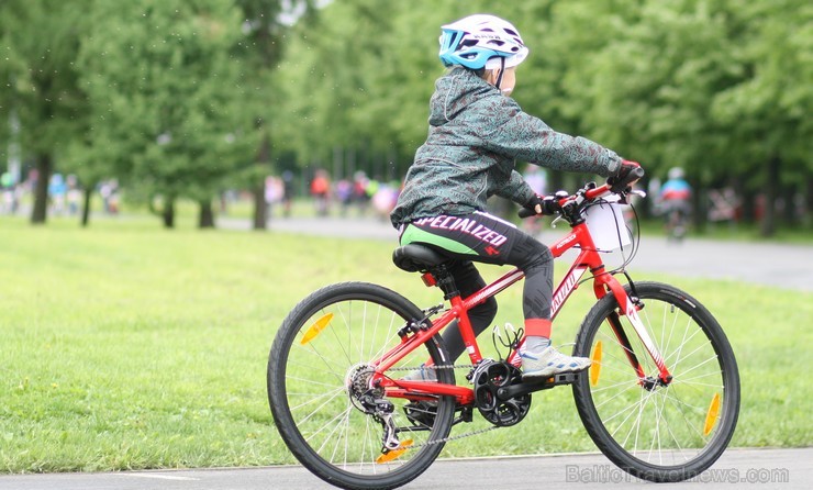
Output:
<path fill-rule="evenodd" d="M 346 489 L 399 487 L 426 470 L 443 449 L 455 415 L 453 398 L 428 403 L 433 413 L 427 416 L 426 402 L 415 408 L 387 397 L 396 408 L 399 441 L 402 446 L 411 441 L 411 446 L 391 461 L 376 463 L 382 454 L 382 425 L 354 404 L 348 389 L 353 374 L 398 345 L 398 330 L 422 316 L 394 291 L 343 282 L 310 294 L 282 322 L 268 358 L 271 413 L 291 453 L 326 482 Z M 439 336 L 424 346 L 393 366 L 403 370 L 387 375 L 404 377 L 430 358 L 435 366 L 449 365 Z M 455 382 L 452 369 L 435 372 L 438 381 Z"/>

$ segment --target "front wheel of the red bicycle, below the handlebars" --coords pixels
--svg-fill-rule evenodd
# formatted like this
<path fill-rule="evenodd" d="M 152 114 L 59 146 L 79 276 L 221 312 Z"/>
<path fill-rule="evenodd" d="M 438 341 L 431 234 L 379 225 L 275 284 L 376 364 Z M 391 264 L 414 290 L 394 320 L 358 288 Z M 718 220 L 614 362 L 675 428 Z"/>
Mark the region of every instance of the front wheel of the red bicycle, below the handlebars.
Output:
<path fill-rule="evenodd" d="M 714 464 L 734 435 L 737 363 L 723 328 L 694 298 L 657 282 L 636 282 L 635 289 L 644 303 L 638 315 L 670 369 L 671 383 L 646 389 L 638 382 L 610 326 L 608 318 L 616 315 L 619 304 L 608 294 L 576 337 L 575 355 L 592 357 L 594 366 L 578 377 L 573 397 L 584 428 L 611 461 L 645 480 L 682 481 Z M 657 377 L 627 318 L 619 319 L 646 376 Z"/>

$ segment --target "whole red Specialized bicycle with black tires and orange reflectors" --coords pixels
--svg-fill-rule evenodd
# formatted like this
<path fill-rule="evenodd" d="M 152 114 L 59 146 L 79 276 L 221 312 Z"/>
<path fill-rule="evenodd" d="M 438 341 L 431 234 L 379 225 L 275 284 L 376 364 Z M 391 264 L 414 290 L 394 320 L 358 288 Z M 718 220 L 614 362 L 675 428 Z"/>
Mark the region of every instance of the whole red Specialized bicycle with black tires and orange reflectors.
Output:
<path fill-rule="evenodd" d="M 680 481 L 709 468 L 736 426 L 734 353 L 697 299 L 669 285 L 632 281 L 630 259 L 605 268 L 600 252 L 637 242 L 619 211 L 628 191 L 589 183 L 572 196 L 557 194 L 557 219 L 571 232 L 550 250 L 555 257 L 580 252 L 556 289 L 553 313 L 592 279 L 598 301 L 572 352 L 592 359 L 589 370 L 524 382 L 519 335 L 505 342 L 504 359 L 483 358 L 467 312 L 520 281 L 522 271 L 461 298 L 446 270 L 448 258 L 410 244 L 394 252 L 396 265 L 437 286 L 441 304 L 421 309 L 385 287 L 343 282 L 313 292 L 282 322 L 268 360 L 268 399 L 291 453 L 332 485 L 394 488 L 421 475 L 447 442 L 517 424 L 533 392 L 571 385 L 584 428 L 622 469 L 650 481 Z M 438 335 L 455 321 L 467 365 L 453 365 Z M 421 366 L 433 369 L 436 380 L 406 377 Z M 456 372 L 465 376 L 459 385 Z M 490 423 L 486 430 L 450 435 L 476 412 Z"/>

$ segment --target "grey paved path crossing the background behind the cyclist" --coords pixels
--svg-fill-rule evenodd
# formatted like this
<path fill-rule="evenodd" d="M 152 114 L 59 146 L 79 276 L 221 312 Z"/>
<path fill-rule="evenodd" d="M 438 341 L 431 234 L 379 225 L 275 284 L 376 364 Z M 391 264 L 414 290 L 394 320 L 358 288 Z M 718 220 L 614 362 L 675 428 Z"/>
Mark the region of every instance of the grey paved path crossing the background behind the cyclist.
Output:
<path fill-rule="evenodd" d="M 221 227 L 244 229 L 247 220 L 221 220 Z M 377 238 L 397 243 L 389 223 L 372 219 L 298 218 L 271 221 L 270 230 L 316 236 Z M 545 229 L 539 240 L 550 244 L 565 234 L 566 226 Z M 606 264 L 620 264 L 609 257 Z M 645 236 L 628 268 L 632 272 L 667 272 L 683 277 L 730 279 L 786 289 L 813 291 L 813 246 L 747 242 L 715 242 L 689 238 L 669 244 L 662 237 Z M 634 276 L 645 279 L 645 276 Z"/>

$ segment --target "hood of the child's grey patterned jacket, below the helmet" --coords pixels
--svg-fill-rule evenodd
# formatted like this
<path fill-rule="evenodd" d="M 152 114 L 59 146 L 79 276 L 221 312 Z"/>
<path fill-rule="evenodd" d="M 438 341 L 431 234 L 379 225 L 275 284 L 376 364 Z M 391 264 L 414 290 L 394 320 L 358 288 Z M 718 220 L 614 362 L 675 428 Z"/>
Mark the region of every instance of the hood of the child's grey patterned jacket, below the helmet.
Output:
<path fill-rule="evenodd" d="M 442 126 L 489 94 L 502 97 L 495 87 L 474 71 L 455 68 L 435 83 L 435 93 L 430 101 L 430 124 Z"/>

